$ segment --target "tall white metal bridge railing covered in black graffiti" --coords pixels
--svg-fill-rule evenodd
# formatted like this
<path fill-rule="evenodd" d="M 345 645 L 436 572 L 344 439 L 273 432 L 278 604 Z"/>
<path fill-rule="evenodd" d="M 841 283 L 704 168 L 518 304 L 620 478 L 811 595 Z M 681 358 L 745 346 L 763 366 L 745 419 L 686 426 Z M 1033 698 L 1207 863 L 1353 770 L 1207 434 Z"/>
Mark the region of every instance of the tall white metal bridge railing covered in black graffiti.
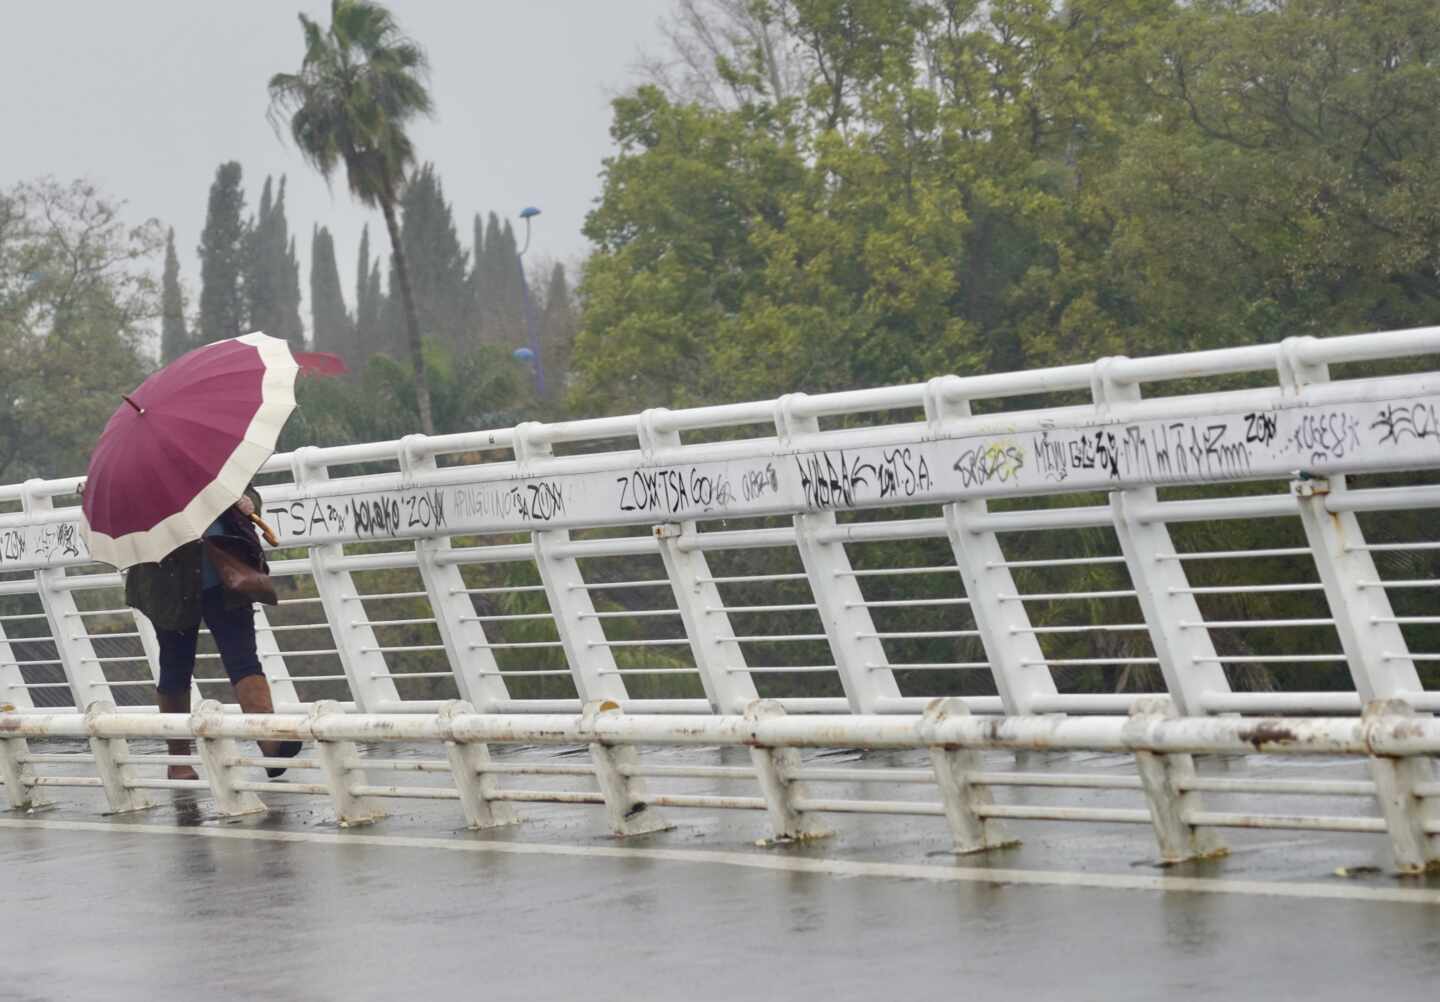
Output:
<path fill-rule="evenodd" d="M 276 455 L 261 489 L 289 587 L 256 613 L 261 655 L 288 711 L 1106 714 L 1140 692 L 1096 690 L 1151 672 L 1191 716 L 1437 710 L 1440 623 L 1392 599 L 1440 584 L 1416 559 L 1440 540 L 1361 528 L 1440 505 L 1437 350 L 1440 328 L 1302 337 Z M 1374 360 L 1405 371 L 1329 371 Z M 0 704 L 20 713 L 134 704 L 157 672 L 88 560 L 76 485 L 0 487 Z M 1176 544 L 1254 520 L 1264 546 Z M 1047 550 L 1077 533 L 1087 551 Z M 1205 584 L 1221 566 L 1256 577 Z M 1237 596 L 1254 615 L 1207 615 Z M 220 695 L 202 656 L 199 695 Z M 1326 665 L 1346 691 L 1233 685 Z"/>

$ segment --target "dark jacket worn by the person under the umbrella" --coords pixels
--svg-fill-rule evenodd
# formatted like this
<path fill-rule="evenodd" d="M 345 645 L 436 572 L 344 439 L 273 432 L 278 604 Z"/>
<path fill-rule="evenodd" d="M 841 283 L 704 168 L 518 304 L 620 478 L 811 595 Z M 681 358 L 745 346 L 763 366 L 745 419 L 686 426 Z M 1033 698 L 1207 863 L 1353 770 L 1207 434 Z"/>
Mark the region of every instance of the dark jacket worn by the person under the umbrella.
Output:
<path fill-rule="evenodd" d="M 253 485 L 245 497 L 261 510 L 261 495 Z M 226 549 L 245 559 L 252 567 L 269 570 L 259 534 L 251 520 L 232 505 L 220 515 L 225 524 Z M 213 537 L 212 537 L 213 538 Z M 200 540 L 171 550 L 158 563 L 135 564 L 125 572 L 125 605 L 140 609 L 156 629 L 192 629 L 200 625 Z M 251 599 L 233 592 L 225 593 L 229 606 L 251 605 Z"/>

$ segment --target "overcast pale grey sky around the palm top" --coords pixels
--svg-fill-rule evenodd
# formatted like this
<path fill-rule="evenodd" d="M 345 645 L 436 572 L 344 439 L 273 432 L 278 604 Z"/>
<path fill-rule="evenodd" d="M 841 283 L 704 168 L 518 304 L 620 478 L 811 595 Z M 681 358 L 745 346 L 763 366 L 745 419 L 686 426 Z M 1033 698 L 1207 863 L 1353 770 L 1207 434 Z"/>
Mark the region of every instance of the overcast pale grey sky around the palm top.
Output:
<path fill-rule="evenodd" d="M 575 261 L 609 154 L 609 99 L 631 81 L 670 0 L 392 0 L 431 58 L 435 121 L 416 127 L 469 245 L 475 212 L 536 220 L 531 255 Z M 328 0 L 35 0 L 6 3 L 0 30 L 4 150 L 0 186 L 86 177 L 134 220 L 176 229 L 180 268 L 199 292 L 194 248 L 215 168 L 239 160 L 253 212 L 266 173 L 288 174 L 287 216 L 301 252 L 308 324 L 312 223 L 336 235 L 353 307 L 354 253 L 379 213 L 334 190 L 265 121 L 265 82 L 302 55 L 297 12 L 328 23 Z M 377 232 L 379 230 L 379 232 Z"/>

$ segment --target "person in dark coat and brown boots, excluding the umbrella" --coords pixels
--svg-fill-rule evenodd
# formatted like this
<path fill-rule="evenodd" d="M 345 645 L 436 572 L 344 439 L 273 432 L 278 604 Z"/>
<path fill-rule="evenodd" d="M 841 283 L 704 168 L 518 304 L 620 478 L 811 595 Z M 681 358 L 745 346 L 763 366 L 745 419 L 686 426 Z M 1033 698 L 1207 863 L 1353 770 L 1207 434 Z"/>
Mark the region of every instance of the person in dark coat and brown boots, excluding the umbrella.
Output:
<path fill-rule="evenodd" d="M 253 485 L 210 523 L 204 536 L 186 543 L 163 560 L 140 563 L 125 573 L 125 603 L 143 612 L 160 641 L 160 681 L 156 697 L 160 713 L 190 713 L 190 682 L 194 677 L 196 645 L 202 620 L 220 652 L 225 674 L 235 688 L 243 713 L 274 713 L 269 681 L 255 649 L 253 596 L 222 580 L 219 563 L 239 557 L 251 569 L 266 573 L 264 550 L 251 523 L 261 507 Z M 259 741 L 266 759 L 291 759 L 300 741 Z M 170 754 L 190 754 L 189 740 L 167 743 Z M 271 777 L 285 772 L 266 767 Z M 173 764 L 168 779 L 199 779 L 192 766 Z"/>

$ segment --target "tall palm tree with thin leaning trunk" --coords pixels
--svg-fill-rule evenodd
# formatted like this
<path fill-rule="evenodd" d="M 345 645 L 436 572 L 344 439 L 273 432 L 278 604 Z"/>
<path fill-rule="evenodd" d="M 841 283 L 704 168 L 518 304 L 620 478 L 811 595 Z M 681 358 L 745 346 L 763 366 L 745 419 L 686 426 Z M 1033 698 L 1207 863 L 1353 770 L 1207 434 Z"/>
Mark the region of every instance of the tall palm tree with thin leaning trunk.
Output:
<path fill-rule="evenodd" d="M 330 30 L 305 14 L 300 14 L 300 26 L 305 58 L 298 73 L 271 78 L 271 124 L 278 131 L 289 119 L 295 145 L 327 181 L 344 161 L 350 193 L 384 215 L 415 366 L 420 428 L 432 435 L 420 325 L 395 213 L 406 170 L 415 164 L 406 125 L 428 117 L 432 108 L 425 52 L 400 32 L 389 10 L 366 0 L 331 0 Z"/>

